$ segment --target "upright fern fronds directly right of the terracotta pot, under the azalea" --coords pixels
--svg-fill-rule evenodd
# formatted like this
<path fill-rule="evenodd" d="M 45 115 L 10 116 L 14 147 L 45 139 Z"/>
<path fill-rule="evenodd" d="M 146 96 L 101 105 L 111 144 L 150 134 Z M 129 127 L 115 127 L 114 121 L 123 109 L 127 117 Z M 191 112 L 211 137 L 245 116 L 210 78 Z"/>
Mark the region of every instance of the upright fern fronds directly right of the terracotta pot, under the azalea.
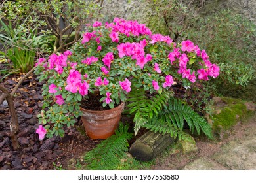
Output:
<path fill-rule="evenodd" d="M 135 135 L 137 135 L 140 127 L 145 125 L 154 116 L 158 116 L 172 95 L 173 92 L 165 92 L 148 98 L 142 88 L 133 88 L 131 90 L 127 99 L 127 108 L 130 114 L 134 114 Z"/>

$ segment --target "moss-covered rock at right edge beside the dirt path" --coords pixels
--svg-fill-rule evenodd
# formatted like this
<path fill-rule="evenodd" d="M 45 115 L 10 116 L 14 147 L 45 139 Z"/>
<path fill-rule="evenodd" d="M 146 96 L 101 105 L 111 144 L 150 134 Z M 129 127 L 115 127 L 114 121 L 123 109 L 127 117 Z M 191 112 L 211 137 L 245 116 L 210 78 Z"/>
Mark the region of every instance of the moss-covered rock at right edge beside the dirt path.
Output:
<path fill-rule="evenodd" d="M 206 116 L 213 127 L 213 133 L 223 139 L 230 135 L 232 127 L 242 122 L 255 112 L 255 104 L 231 97 L 214 97 L 211 116 Z"/>

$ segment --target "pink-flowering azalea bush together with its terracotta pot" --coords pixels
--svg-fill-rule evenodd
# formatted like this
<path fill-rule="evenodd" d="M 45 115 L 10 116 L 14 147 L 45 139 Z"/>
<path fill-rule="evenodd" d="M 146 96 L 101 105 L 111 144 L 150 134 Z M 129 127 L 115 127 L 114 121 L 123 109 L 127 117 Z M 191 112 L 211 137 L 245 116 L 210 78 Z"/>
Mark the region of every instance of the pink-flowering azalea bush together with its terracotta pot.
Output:
<path fill-rule="evenodd" d="M 41 125 L 37 129 L 40 139 L 45 135 L 63 136 L 64 125 L 74 125 L 74 118 L 79 116 L 84 125 L 93 125 L 85 127 L 89 137 L 106 139 L 117 124 L 110 127 L 106 124 L 108 119 L 102 118 L 114 118 L 110 114 L 115 114 L 119 122 L 121 112 L 117 109 L 123 110 L 132 85 L 161 93 L 175 81 L 188 87 L 196 80 L 219 75 L 219 67 L 193 42 L 177 44 L 169 36 L 152 34 L 144 24 L 121 18 L 104 25 L 101 22 L 87 25 L 81 41 L 70 50 L 52 54 L 48 59 L 40 58 L 36 64 L 35 73 L 40 81 L 46 80 L 43 110 L 39 114 Z M 88 110 L 93 112 L 87 114 Z M 95 116 L 98 110 L 110 114 Z M 101 129 L 110 127 L 112 131 L 103 136 L 91 135 L 100 131 L 96 127 L 101 123 L 104 124 Z"/>

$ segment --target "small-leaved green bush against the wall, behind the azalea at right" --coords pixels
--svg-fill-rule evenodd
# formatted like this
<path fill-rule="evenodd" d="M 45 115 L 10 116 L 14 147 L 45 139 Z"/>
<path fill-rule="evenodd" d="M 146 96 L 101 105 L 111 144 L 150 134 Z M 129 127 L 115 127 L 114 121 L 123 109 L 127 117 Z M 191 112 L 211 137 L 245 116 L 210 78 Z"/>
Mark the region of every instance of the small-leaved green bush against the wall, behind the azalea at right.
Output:
<path fill-rule="evenodd" d="M 181 0 L 148 0 L 148 27 L 169 33 L 173 40 L 190 39 L 209 50 L 213 63 L 221 68 L 221 75 L 212 81 L 217 92 L 233 97 L 255 100 L 255 25 L 232 10 L 219 10 L 206 16 L 200 14 L 209 2 Z M 157 20 L 157 21 L 155 21 Z M 160 24 L 161 23 L 161 24 Z M 249 85 L 248 88 L 245 88 Z M 255 94 L 255 93 L 254 93 Z"/>

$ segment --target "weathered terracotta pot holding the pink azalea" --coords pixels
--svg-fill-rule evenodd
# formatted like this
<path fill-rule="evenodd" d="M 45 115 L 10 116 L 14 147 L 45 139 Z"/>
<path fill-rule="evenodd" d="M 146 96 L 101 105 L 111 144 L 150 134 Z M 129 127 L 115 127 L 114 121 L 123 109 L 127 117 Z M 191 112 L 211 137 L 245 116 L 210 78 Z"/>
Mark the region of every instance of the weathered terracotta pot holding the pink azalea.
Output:
<path fill-rule="evenodd" d="M 121 113 L 125 107 L 125 103 L 110 110 L 87 110 L 81 108 L 83 112 L 81 119 L 85 131 L 91 139 L 107 139 L 115 133 L 119 125 Z"/>

